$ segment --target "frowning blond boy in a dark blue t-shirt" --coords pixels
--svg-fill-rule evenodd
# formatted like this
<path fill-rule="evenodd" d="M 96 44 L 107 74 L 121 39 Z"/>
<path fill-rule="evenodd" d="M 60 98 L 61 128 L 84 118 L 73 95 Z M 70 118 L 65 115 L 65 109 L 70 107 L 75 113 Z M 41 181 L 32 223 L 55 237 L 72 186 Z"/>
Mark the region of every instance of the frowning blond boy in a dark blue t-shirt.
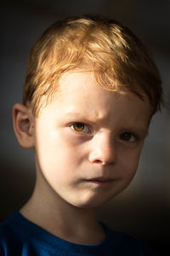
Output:
<path fill-rule="evenodd" d="M 1 224 L 1 255 L 151 255 L 99 223 L 95 209 L 133 179 L 161 80 L 144 45 L 115 20 L 73 17 L 31 49 L 20 145 L 34 148 L 31 199 Z"/>

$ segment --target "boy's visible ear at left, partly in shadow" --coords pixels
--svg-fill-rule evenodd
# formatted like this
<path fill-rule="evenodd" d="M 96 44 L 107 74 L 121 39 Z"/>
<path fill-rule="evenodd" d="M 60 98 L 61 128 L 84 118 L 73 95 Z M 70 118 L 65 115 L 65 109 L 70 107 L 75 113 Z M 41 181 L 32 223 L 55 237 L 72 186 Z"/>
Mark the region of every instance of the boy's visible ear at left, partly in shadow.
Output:
<path fill-rule="evenodd" d="M 29 108 L 16 103 L 13 108 L 14 133 L 23 148 L 34 148 L 34 119 Z"/>

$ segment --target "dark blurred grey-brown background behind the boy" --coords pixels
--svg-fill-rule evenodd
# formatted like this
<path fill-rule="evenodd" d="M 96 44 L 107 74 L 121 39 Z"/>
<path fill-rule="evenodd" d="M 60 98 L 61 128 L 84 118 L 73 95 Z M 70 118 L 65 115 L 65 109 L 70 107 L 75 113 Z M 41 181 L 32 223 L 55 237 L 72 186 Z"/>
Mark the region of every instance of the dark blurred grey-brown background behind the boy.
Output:
<path fill-rule="evenodd" d="M 20 208 L 31 195 L 35 172 L 33 152 L 14 137 L 12 107 L 21 102 L 26 59 L 38 35 L 68 15 L 99 14 L 129 26 L 151 49 L 161 72 L 166 101 L 170 95 L 170 1 L 59 0 L 1 3 L 1 176 L 0 219 Z M 150 124 L 133 183 L 99 209 L 99 218 L 148 242 L 160 255 L 170 227 L 170 110 Z"/>

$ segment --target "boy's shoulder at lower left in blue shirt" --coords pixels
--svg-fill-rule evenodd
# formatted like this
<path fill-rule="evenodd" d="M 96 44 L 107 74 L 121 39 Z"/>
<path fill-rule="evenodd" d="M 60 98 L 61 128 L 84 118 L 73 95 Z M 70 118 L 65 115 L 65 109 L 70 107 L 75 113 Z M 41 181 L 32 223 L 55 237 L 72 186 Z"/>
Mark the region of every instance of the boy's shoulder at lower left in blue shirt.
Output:
<path fill-rule="evenodd" d="M 59 242 L 46 230 L 14 212 L 0 224 L 0 256 L 61 255 Z M 58 241 L 58 239 L 57 239 Z"/>

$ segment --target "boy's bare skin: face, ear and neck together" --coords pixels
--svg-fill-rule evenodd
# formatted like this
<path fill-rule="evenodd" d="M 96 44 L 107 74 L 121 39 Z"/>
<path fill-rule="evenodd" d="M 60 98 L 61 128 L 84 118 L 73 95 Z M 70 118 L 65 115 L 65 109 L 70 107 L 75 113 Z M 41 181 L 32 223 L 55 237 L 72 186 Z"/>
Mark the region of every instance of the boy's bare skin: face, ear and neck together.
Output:
<path fill-rule="evenodd" d="M 98 243 L 105 232 L 95 208 L 132 181 L 152 109 L 147 96 L 102 89 L 93 73 L 65 73 L 59 85 L 38 118 L 14 105 L 15 134 L 21 146 L 34 148 L 37 169 L 20 212 L 65 240 Z"/>

